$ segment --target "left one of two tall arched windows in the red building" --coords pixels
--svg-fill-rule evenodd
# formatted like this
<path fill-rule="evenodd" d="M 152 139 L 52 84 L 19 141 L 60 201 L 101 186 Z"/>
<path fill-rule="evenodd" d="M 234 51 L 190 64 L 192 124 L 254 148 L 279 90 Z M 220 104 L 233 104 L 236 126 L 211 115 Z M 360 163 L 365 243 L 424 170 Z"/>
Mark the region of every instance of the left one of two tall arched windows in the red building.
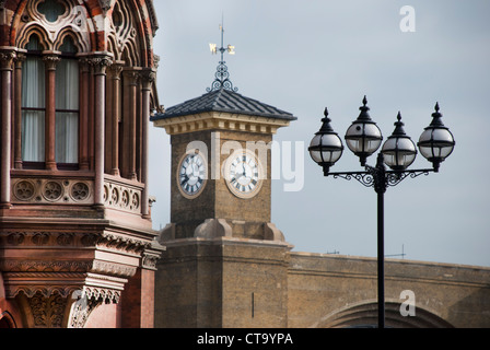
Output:
<path fill-rule="evenodd" d="M 22 161 L 25 165 L 45 160 L 45 67 L 37 35 L 31 35 L 22 69 Z M 27 166 L 28 167 L 28 166 Z"/>

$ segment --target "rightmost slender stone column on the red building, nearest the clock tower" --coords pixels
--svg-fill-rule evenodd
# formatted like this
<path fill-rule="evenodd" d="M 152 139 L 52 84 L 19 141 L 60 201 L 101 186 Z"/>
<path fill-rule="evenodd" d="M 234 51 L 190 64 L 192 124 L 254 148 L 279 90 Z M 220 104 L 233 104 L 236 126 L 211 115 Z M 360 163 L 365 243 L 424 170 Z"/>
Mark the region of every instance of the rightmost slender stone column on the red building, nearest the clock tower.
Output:
<path fill-rule="evenodd" d="M 148 176 L 148 152 L 149 152 L 149 136 L 148 125 L 150 121 L 150 94 L 151 86 L 155 81 L 156 72 L 151 69 L 144 69 L 141 73 L 142 78 L 142 159 L 141 159 L 141 183 L 144 184 L 144 189 L 141 196 L 141 214 L 143 218 L 150 218 L 150 202 L 149 202 L 149 176 Z"/>

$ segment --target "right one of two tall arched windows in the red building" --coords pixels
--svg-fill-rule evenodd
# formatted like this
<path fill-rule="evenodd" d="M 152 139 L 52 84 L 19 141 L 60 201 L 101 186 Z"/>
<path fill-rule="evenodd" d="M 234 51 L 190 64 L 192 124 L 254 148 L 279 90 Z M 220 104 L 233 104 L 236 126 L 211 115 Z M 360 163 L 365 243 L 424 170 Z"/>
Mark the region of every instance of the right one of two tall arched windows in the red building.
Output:
<path fill-rule="evenodd" d="M 56 163 L 72 168 L 79 162 L 79 61 L 77 47 L 67 36 L 56 67 Z"/>

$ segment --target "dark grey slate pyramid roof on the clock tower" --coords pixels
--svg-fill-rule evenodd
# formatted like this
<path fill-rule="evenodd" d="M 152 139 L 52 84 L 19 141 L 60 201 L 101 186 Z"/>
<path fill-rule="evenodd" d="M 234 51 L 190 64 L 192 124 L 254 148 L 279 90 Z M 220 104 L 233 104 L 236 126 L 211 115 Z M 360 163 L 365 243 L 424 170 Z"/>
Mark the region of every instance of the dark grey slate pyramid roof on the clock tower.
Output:
<path fill-rule="evenodd" d="M 151 117 L 151 120 L 168 119 L 207 112 L 224 112 L 284 120 L 296 119 L 289 112 L 281 110 L 257 100 L 245 97 L 232 90 L 219 89 L 210 91 L 200 97 L 170 107 L 162 114 L 155 114 Z"/>

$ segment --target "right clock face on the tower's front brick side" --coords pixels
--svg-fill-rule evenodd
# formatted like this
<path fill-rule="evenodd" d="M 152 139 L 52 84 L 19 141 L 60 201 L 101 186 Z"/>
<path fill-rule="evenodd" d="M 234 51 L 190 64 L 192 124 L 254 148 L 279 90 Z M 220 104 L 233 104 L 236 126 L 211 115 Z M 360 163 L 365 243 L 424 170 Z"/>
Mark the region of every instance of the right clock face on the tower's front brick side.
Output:
<path fill-rule="evenodd" d="M 254 197 L 261 186 L 261 167 L 257 158 L 242 152 L 232 155 L 226 163 L 226 185 L 237 197 Z"/>

